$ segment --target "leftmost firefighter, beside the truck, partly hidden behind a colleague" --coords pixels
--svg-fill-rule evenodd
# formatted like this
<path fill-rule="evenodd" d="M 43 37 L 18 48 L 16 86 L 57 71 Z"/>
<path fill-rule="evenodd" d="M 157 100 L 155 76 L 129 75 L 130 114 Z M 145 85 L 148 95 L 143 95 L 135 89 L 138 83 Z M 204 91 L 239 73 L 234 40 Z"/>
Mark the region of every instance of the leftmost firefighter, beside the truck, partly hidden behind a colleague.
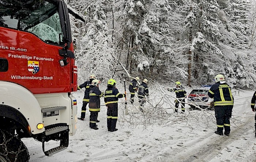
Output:
<path fill-rule="evenodd" d="M 82 106 L 82 111 L 81 111 L 81 117 L 79 118 L 80 120 L 84 120 L 85 117 L 85 112 L 86 112 L 86 106 L 87 103 L 89 103 L 90 97 L 90 86 L 91 86 L 91 81 L 95 79 L 95 76 L 92 74 L 89 77 L 89 81 L 84 82 L 80 86 L 77 87 L 78 90 L 81 90 L 82 88 L 85 88 L 84 91 L 84 98 L 83 98 L 83 106 Z"/>

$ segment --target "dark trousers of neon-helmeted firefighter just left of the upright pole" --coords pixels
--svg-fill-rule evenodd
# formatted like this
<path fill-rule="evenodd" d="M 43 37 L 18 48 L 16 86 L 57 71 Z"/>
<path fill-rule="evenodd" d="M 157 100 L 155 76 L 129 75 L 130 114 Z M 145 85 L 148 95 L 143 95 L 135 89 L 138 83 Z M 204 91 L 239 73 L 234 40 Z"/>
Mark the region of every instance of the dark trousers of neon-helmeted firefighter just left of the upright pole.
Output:
<path fill-rule="evenodd" d="M 107 126 L 108 131 L 114 131 L 116 129 L 116 122 L 118 116 L 118 104 L 117 103 L 108 103 L 107 111 Z"/>

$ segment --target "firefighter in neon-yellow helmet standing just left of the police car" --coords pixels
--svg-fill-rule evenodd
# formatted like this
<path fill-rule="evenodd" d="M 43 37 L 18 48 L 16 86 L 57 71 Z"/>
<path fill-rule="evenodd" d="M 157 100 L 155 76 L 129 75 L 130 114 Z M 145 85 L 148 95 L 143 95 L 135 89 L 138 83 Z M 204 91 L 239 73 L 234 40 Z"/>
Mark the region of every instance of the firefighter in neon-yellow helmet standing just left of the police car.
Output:
<path fill-rule="evenodd" d="M 187 92 L 185 91 L 185 88 L 181 86 L 180 82 L 175 82 L 176 84 L 176 88 L 171 88 L 171 89 L 167 89 L 171 92 L 175 92 L 176 94 L 176 100 L 175 102 L 175 112 L 178 112 L 178 107 L 180 105 L 181 102 L 181 112 L 184 113 L 185 112 L 185 97 L 187 95 Z"/>

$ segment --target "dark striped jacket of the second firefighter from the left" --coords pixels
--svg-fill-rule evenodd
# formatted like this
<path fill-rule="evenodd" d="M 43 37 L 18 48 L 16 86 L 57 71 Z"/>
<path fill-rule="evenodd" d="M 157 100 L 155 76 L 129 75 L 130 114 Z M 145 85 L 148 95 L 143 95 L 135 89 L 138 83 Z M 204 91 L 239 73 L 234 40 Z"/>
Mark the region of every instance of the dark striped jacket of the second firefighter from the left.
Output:
<path fill-rule="evenodd" d="M 90 90 L 90 101 L 89 101 L 89 110 L 92 112 L 99 112 L 101 101 L 99 98 L 101 98 L 103 93 L 99 90 L 98 87 L 91 86 Z"/>

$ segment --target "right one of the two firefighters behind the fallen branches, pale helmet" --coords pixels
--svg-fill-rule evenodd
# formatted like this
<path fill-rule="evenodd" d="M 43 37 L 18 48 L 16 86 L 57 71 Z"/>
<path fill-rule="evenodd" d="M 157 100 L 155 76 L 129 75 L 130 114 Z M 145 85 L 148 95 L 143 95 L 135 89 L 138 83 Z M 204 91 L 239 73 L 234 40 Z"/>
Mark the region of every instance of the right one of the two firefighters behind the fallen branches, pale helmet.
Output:
<path fill-rule="evenodd" d="M 144 79 L 143 82 L 139 85 L 138 98 L 139 98 L 141 112 L 144 112 L 142 108 L 144 106 L 144 103 L 146 102 L 146 97 L 148 97 L 147 83 L 148 83 L 148 80 Z"/>

